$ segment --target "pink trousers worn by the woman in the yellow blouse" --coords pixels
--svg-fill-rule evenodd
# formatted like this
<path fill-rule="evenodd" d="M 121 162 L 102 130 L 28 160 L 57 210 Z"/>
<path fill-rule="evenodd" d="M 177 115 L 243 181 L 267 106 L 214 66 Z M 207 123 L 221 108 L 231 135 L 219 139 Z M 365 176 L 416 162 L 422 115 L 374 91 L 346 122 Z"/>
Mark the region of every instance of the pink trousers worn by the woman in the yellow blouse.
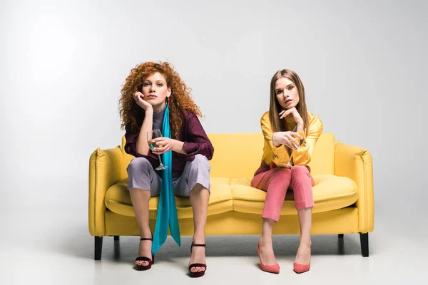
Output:
<path fill-rule="evenodd" d="M 272 168 L 264 172 L 256 172 L 251 186 L 266 193 L 263 219 L 278 222 L 287 190 L 294 193 L 296 209 L 314 207 L 312 186 L 315 185 L 309 170 L 304 165 L 288 168 Z"/>

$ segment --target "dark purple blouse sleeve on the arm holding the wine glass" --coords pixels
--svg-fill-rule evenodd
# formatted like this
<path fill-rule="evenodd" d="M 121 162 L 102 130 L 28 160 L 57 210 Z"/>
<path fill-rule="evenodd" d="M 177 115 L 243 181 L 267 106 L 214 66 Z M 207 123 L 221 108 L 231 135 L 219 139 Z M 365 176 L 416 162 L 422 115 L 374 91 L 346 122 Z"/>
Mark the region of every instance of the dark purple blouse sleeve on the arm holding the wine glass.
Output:
<path fill-rule="evenodd" d="M 204 155 L 208 160 L 211 160 L 214 147 L 198 117 L 193 112 L 189 112 L 186 116 L 186 131 L 187 140 L 183 145 L 183 150 L 187 153 L 186 160 L 194 160 L 195 155 Z"/>

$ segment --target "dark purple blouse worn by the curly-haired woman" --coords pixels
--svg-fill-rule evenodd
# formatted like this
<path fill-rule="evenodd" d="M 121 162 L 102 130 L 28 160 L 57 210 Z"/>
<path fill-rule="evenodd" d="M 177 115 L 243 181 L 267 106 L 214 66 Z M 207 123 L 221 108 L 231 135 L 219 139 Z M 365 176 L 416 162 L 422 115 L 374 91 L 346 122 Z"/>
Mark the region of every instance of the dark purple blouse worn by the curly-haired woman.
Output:
<path fill-rule="evenodd" d="M 138 120 L 139 125 L 142 123 L 142 120 Z M 151 150 L 148 151 L 148 155 L 137 153 L 138 133 L 131 133 L 131 131 L 126 128 L 125 152 L 135 157 L 146 158 L 153 166 L 153 169 L 158 167 L 158 155 L 153 154 Z M 184 142 L 183 150 L 187 153 L 187 155 L 173 152 L 173 177 L 180 176 L 184 170 L 185 163 L 189 160 L 194 160 L 195 155 L 205 155 L 208 160 L 213 158 L 214 147 L 208 139 L 208 136 L 200 124 L 198 117 L 193 112 L 188 112 L 185 120 L 183 121 L 183 125 L 180 129 L 180 141 Z"/>

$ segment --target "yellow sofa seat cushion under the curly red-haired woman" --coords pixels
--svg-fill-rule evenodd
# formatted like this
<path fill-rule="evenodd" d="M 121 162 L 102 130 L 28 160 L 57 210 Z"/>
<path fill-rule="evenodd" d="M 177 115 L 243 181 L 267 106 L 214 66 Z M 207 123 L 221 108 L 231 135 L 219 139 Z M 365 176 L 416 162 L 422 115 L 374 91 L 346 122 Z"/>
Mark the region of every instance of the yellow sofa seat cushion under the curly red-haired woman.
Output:
<path fill-rule="evenodd" d="M 211 195 L 208 215 L 221 214 L 233 210 L 232 192 L 229 178 L 211 178 Z M 111 186 L 104 200 L 106 207 L 116 214 L 135 217 L 131 196 L 127 190 L 128 180 L 121 180 Z M 159 197 L 151 197 L 148 207 L 149 217 L 156 219 Z M 188 197 L 175 197 L 178 219 L 193 217 L 192 206 Z"/>

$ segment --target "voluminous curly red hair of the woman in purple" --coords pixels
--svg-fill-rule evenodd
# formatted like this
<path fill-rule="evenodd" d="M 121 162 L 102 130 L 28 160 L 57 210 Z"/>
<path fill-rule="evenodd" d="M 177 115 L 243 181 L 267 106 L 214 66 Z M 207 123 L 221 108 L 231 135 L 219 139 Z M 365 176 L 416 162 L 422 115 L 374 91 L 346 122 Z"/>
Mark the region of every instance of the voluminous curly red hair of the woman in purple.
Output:
<path fill-rule="evenodd" d="M 185 86 L 178 73 L 170 63 L 141 63 L 136 68 L 131 69 L 131 73 L 126 78 L 122 86 L 121 98 L 119 100 L 121 129 L 131 133 L 138 133 L 143 123 L 144 110 L 133 98 L 133 94 L 141 91 L 143 81 L 154 73 L 161 73 L 165 76 L 166 85 L 171 88 L 169 98 L 170 130 L 171 137 L 179 140 L 180 128 L 188 112 L 193 112 L 198 117 L 202 117 L 198 105 L 191 98 L 191 89 Z"/>

